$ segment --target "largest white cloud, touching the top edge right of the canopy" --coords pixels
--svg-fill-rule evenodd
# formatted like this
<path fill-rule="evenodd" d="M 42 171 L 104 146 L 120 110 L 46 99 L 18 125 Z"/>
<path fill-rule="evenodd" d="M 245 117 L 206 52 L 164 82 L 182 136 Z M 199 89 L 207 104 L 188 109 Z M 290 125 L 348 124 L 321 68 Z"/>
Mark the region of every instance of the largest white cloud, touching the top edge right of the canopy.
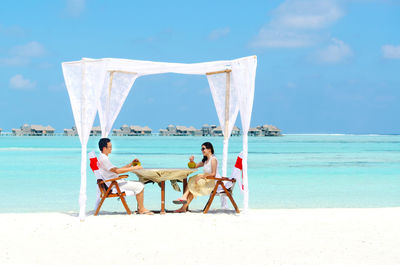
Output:
<path fill-rule="evenodd" d="M 250 42 L 256 48 L 308 47 L 320 39 L 321 30 L 344 12 L 336 0 L 286 0 L 272 12 L 272 19 Z"/>

